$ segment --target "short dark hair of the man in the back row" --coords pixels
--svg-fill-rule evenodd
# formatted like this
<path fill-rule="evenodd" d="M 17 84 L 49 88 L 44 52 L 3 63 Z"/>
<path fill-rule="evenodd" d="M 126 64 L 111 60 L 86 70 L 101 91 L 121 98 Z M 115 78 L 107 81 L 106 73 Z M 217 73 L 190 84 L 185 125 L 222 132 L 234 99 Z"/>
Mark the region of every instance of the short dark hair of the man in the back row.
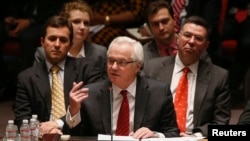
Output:
<path fill-rule="evenodd" d="M 148 17 L 152 14 L 156 14 L 162 8 L 168 9 L 169 14 L 171 15 L 172 18 L 174 18 L 174 11 L 172 6 L 164 0 L 156 0 L 150 2 L 150 4 L 147 7 L 147 16 L 146 16 L 147 23 L 149 22 Z"/>

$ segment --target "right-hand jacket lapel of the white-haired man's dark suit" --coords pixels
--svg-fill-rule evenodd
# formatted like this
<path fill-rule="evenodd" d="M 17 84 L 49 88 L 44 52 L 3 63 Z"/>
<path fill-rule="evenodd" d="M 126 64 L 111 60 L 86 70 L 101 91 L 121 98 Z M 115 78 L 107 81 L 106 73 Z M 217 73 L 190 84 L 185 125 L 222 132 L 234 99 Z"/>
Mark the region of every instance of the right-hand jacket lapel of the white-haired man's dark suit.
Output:
<path fill-rule="evenodd" d="M 135 114 L 134 114 L 134 131 L 139 129 L 143 123 L 143 117 L 145 117 L 146 104 L 148 101 L 149 92 L 147 91 L 148 84 L 138 76 L 136 84 L 136 96 L 135 96 Z"/>

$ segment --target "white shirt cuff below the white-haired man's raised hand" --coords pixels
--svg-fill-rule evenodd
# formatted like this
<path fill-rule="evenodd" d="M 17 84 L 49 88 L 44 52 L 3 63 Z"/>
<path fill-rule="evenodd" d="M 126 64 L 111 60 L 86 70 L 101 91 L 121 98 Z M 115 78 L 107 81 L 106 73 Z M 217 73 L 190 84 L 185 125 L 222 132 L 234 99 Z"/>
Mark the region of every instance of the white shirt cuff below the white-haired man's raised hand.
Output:
<path fill-rule="evenodd" d="M 70 128 L 74 128 L 76 127 L 79 123 L 81 122 L 81 113 L 80 111 L 78 113 L 76 113 L 73 117 L 71 116 L 70 112 L 69 112 L 69 107 L 67 109 L 67 113 L 66 113 L 66 123 L 68 124 L 68 126 Z"/>

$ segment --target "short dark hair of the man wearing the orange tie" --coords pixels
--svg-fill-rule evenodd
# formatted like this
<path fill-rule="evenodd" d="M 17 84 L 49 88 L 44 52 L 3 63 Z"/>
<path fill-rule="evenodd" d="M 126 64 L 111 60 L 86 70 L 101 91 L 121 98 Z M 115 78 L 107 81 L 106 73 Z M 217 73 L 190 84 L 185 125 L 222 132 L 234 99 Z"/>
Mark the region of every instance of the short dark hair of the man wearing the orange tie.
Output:
<path fill-rule="evenodd" d="M 194 23 L 196 25 L 199 25 L 199 26 L 202 26 L 204 27 L 206 30 L 207 30 L 207 39 L 209 39 L 210 37 L 210 32 L 211 32 L 211 29 L 208 25 L 208 23 L 206 22 L 205 19 L 203 19 L 202 17 L 199 17 L 199 16 L 190 16 L 188 17 L 182 24 L 182 27 L 181 29 L 183 28 L 183 26 L 187 23 Z"/>

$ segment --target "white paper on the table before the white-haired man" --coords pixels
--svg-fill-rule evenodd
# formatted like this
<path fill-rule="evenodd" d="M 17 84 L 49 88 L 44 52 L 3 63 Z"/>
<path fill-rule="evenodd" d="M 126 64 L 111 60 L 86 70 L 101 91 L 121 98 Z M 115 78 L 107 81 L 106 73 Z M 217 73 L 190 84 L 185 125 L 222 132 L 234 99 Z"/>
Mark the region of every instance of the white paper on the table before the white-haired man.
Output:
<path fill-rule="evenodd" d="M 174 137 L 174 138 L 147 138 L 134 139 L 130 136 L 113 136 L 113 141 L 200 141 L 204 137 Z M 110 141 L 110 135 L 98 134 L 98 141 Z"/>

